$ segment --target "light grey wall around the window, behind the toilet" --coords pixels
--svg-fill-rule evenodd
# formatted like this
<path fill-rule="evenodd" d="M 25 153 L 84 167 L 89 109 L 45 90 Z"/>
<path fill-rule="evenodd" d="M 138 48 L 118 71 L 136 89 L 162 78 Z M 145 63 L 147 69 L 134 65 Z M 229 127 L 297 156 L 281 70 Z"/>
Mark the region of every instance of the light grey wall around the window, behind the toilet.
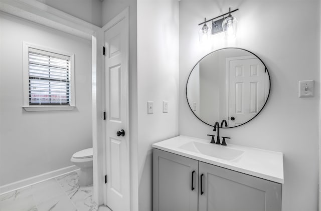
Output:
<path fill-rule="evenodd" d="M 91 42 L 0 15 L 0 185 L 73 165 L 92 146 Z M 23 108 L 23 42 L 75 54 L 73 111 L 26 112 Z"/>

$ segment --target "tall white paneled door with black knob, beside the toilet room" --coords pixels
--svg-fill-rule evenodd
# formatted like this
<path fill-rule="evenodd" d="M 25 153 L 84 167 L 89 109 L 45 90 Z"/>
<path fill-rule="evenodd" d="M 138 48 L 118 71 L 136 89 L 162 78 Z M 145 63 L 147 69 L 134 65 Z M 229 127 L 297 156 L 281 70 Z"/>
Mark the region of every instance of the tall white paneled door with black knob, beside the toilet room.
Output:
<path fill-rule="evenodd" d="M 105 69 L 106 203 L 129 211 L 128 10 L 103 27 Z"/>

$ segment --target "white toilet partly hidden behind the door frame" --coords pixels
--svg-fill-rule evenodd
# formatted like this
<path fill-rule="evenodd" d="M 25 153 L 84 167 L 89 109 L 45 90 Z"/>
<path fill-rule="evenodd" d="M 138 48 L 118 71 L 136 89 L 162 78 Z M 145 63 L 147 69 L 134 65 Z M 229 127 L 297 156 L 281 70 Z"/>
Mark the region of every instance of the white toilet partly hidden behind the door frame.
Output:
<path fill-rule="evenodd" d="M 72 155 L 70 161 L 80 168 L 79 186 L 93 184 L 92 148 L 84 149 Z"/>

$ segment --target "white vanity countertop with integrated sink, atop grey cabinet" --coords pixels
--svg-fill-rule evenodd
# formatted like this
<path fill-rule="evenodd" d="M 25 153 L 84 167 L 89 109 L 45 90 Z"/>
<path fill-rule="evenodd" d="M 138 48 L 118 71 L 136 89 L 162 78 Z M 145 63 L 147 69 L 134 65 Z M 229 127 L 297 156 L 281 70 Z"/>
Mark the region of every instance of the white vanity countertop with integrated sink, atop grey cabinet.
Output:
<path fill-rule="evenodd" d="M 208 139 L 183 135 L 154 143 L 152 147 L 270 181 L 284 182 L 281 152 L 230 143 L 221 146 Z"/>

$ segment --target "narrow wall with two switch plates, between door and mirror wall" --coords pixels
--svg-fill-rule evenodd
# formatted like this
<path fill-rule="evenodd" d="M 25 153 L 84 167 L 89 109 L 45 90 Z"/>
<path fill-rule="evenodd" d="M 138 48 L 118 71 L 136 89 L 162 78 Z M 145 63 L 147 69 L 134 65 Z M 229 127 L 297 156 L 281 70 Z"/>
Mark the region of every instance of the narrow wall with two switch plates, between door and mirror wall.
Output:
<path fill-rule="evenodd" d="M 151 144 L 178 135 L 179 3 L 137 1 L 139 211 L 152 210 Z M 163 100 L 169 113 L 163 113 Z M 147 101 L 154 113 L 147 114 Z"/>

